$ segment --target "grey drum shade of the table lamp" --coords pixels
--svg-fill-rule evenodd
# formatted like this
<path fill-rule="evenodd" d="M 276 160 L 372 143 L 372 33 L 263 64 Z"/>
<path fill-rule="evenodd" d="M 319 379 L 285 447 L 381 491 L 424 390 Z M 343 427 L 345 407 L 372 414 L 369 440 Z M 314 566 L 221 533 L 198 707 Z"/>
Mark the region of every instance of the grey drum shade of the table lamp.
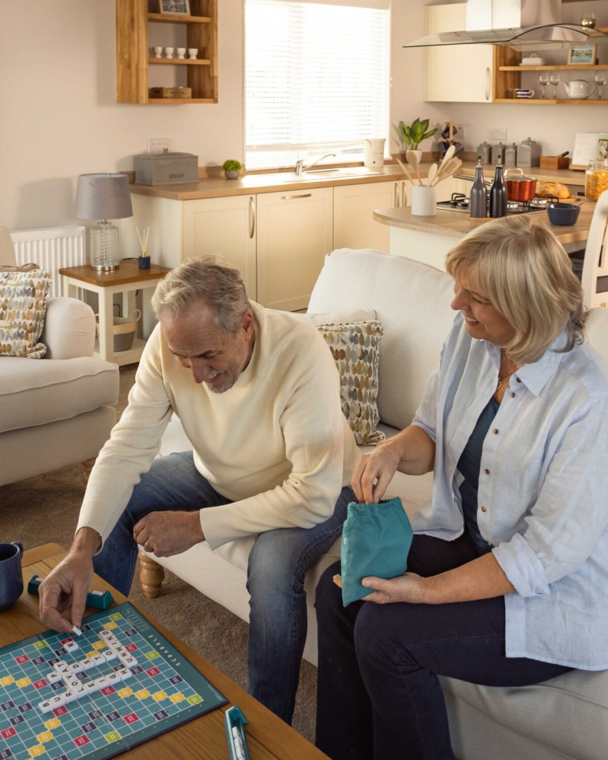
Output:
<path fill-rule="evenodd" d="M 126 174 L 81 174 L 76 188 L 79 219 L 124 219 L 133 216 Z"/>

